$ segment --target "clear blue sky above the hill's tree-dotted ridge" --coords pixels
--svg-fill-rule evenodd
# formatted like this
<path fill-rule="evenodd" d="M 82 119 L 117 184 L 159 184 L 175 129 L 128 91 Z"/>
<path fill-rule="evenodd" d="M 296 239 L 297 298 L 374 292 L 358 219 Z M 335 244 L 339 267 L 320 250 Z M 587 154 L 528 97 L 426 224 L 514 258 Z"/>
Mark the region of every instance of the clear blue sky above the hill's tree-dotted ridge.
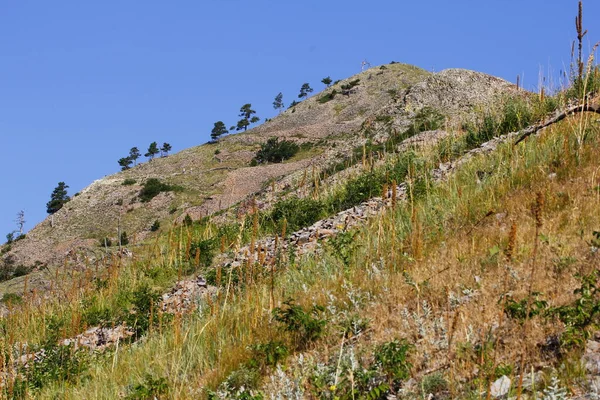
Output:
<path fill-rule="evenodd" d="M 25 210 L 119 170 L 152 141 L 204 143 L 252 103 L 297 97 L 392 60 L 468 68 L 535 88 L 568 67 L 576 0 L 195 0 L 0 2 L 0 242 Z M 584 1 L 586 48 L 600 2 Z"/>

